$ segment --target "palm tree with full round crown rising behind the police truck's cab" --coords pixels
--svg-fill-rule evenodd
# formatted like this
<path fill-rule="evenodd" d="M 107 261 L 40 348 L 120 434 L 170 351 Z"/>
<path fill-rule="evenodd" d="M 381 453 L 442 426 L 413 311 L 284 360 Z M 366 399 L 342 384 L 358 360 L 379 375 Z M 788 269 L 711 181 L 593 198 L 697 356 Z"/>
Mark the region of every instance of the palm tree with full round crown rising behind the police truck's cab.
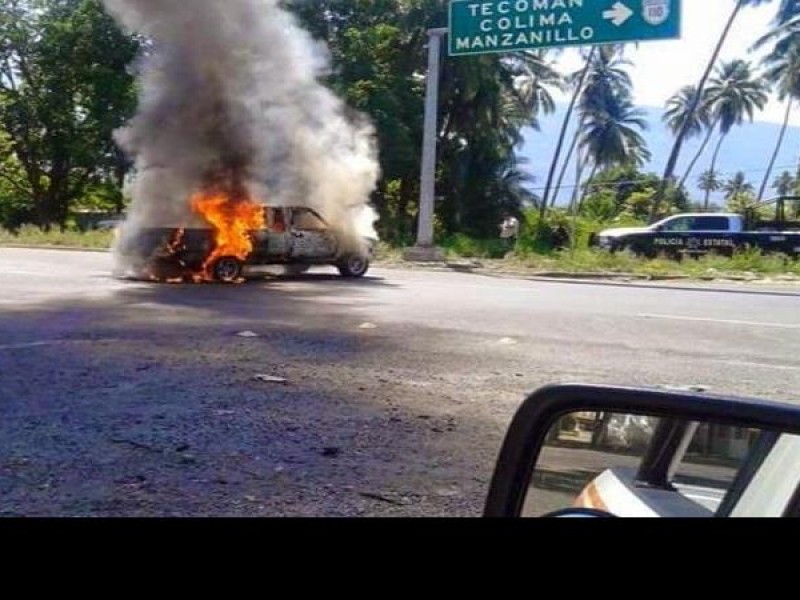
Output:
<path fill-rule="evenodd" d="M 717 170 L 722 145 L 731 129 L 743 124 L 745 117 L 752 121 L 755 110 L 764 108 L 769 100 L 767 89 L 763 81 L 753 76 L 747 61 L 736 59 L 724 62 L 717 68 L 707 91 L 711 118 L 720 132 L 710 171 Z"/>

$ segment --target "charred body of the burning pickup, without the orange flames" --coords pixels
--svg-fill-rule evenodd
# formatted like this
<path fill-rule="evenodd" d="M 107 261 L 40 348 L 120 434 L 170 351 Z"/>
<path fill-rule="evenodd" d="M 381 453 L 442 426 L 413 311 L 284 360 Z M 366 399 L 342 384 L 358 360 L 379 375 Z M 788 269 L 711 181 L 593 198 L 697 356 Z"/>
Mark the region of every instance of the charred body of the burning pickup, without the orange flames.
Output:
<path fill-rule="evenodd" d="M 216 236 L 209 227 L 122 228 L 116 253 L 126 275 L 158 281 L 200 277 L 232 283 L 266 265 L 284 265 L 290 273 L 332 265 L 350 278 L 363 277 L 369 270 L 377 240 L 353 239 L 310 208 L 264 206 L 263 211 L 263 228 L 247 233 L 252 251 L 244 259 L 215 257 Z"/>

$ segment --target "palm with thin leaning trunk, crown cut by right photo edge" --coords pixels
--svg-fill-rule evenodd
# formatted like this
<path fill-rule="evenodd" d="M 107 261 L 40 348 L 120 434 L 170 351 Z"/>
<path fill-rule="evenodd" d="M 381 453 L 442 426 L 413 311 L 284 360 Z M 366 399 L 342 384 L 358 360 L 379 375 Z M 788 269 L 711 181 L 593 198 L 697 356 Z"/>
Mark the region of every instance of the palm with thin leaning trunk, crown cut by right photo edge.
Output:
<path fill-rule="evenodd" d="M 789 33 L 779 38 L 772 52 L 764 58 L 763 64 L 767 69 L 764 73 L 764 78 L 777 86 L 778 98 L 786 102 L 786 114 L 783 118 L 783 125 L 778 135 L 778 141 L 775 144 L 775 150 L 770 158 L 767 172 L 761 182 L 761 189 L 758 192 L 759 201 L 764 199 L 769 180 L 772 177 L 772 171 L 775 168 L 775 162 L 783 147 L 783 141 L 789 128 L 789 119 L 794 108 L 794 101 L 800 99 L 800 36 Z"/>

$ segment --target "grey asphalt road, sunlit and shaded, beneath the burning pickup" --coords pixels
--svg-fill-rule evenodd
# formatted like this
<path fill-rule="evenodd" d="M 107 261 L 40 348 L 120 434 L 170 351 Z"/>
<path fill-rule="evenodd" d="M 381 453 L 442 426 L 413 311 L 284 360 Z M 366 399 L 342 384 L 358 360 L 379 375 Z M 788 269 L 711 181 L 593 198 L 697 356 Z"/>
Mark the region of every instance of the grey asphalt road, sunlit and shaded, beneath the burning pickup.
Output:
<path fill-rule="evenodd" d="M 800 402 L 800 290 L 110 272 L 0 249 L 0 515 L 471 516 L 544 384 Z"/>

